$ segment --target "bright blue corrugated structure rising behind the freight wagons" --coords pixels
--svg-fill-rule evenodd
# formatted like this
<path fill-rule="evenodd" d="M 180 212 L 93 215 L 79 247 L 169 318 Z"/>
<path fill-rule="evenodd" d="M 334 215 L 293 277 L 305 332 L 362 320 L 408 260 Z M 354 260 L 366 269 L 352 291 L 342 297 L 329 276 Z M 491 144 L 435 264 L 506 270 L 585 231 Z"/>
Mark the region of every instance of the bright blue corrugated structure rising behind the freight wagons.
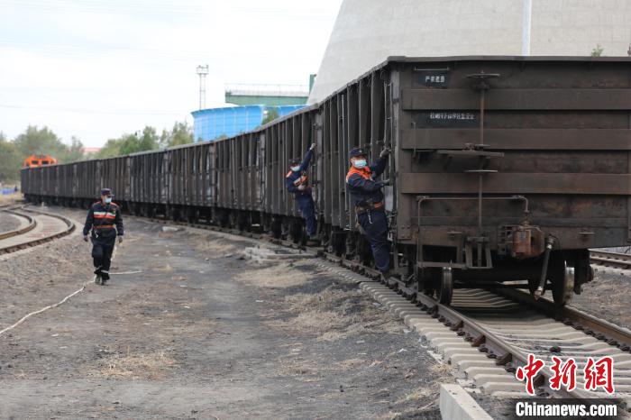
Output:
<path fill-rule="evenodd" d="M 246 105 L 200 109 L 191 113 L 194 119 L 195 141 L 206 142 L 232 137 L 260 127 L 269 113 L 278 113 L 278 117 L 281 117 L 304 106 Z"/>

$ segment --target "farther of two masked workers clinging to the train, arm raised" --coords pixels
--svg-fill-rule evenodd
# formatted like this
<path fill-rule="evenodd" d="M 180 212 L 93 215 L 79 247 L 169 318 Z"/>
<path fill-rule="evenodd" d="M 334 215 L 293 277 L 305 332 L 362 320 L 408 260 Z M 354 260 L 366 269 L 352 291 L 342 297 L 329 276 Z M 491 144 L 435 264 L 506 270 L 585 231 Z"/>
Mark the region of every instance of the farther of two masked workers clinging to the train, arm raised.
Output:
<path fill-rule="evenodd" d="M 300 215 L 305 219 L 306 235 L 308 237 L 307 244 L 316 245 L 320 242 L 317 237 L 317 220 L 315 219 L 315 203 L 314 197 L 311 195 L 312 190 L 309 186 L 309 176 L 306 169 L 314 155 L 315 143 L 306 151 L 305 158 L 292 159 L 289 161 L 289 171 L 285 176 L 285 185 L 290 193 L 296 198 Z"/>

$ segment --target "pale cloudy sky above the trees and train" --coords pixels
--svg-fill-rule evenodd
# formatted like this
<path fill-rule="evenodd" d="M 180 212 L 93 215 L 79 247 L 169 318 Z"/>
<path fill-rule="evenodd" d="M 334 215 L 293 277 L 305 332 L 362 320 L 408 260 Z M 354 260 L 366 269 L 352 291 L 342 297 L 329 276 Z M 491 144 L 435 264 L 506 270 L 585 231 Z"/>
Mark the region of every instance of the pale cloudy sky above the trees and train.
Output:
<path fill-rule="evenodd" d="M 87 147 L 192 124 L 224 85 L 308 85 L 342 0 L 0 0 L 0 132 L 29 124 Z"/>

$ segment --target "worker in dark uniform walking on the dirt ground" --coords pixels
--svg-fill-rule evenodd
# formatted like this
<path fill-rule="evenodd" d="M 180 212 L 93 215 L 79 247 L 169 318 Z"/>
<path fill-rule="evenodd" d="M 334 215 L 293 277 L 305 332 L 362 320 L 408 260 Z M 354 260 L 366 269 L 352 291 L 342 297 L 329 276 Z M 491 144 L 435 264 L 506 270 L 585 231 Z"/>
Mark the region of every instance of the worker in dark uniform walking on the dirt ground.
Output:
<path fill-rule="evenodd" d="M 101 190 L 101 201 L 97 201 L 87 212 L 86 224 L 83 227 L 83 240 L 87 242 L 87 234 L 92 230 L 92 258 L 95 266 L 95 283 L 105 286 L 110 278 L 110 263 L 114 243 L 118 235 L 118 243 L 123 242 L 123 217 L 121 209 L 112 202 L 112 190 Z"/>

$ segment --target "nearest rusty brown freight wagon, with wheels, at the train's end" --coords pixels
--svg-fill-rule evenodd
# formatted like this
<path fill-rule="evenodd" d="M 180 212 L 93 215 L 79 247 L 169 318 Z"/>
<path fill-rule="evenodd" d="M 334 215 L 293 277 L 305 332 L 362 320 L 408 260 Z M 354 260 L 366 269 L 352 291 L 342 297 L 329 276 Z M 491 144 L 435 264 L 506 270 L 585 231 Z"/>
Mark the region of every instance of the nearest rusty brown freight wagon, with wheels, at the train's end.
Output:
<path fill-rule="evenodd" d="M 319 105 L 325 223 L 343 231 L 347 254 L 368 259 L 346 153 L 361 145 L 376 158 L 388 145 L 390 282 L 443 303 L 454 287 L 502 283 L 565 304 L 593 278 L 589 248 L 631 239 L 629 64 L 389 59 Z"/>

